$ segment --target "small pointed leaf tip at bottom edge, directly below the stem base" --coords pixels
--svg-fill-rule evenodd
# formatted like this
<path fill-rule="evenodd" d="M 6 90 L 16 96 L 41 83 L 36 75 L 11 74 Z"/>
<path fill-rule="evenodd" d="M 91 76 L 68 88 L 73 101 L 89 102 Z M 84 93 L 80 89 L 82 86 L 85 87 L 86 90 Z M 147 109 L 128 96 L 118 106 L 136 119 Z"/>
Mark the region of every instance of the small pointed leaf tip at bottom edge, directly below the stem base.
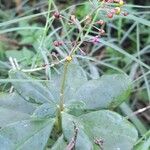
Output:
<path fill-rule="evenodd" d="M 58 138 L 54 146 L 51 148 L 51 150 L 66 150 L 67 144 L 64 140 L 63 135 Z"/>

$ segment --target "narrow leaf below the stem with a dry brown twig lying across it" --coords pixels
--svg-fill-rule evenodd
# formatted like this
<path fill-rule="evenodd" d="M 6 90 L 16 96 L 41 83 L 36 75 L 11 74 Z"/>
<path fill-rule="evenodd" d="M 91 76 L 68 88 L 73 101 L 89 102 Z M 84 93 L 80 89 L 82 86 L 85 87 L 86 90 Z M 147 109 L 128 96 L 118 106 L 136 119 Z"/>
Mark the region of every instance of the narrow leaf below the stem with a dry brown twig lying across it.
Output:
<path fill-rule="evenodd" d="M 77 139 L 76 139 L 76 150 L 91 150 L 92 143 L 89 137 L 84 133 L 83 126 L 80 122 L 72 115 L 67 113 L 62 113 L 62 128 L 64 137 L 67 139 L 68 143 L 74 137 L 74 127 L 78 128 Z"/>

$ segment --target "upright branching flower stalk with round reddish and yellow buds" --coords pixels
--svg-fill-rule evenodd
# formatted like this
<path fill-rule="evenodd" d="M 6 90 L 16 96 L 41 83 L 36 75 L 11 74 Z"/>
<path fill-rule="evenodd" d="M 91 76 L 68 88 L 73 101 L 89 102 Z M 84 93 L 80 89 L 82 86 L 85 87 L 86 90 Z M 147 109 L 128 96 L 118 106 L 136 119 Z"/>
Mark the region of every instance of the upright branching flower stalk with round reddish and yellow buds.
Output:
<path fill-rule="evenodd" d="M 70 53 L 68 54 L 68 56 L 65 58 L 65 64 L 64 64 L 64 72 L 63 72 L 63 77 L 62 77 L 62 81 L 61 81 L 61 87 L 60 87 L 60 100 L 59 100 L 59 106 L 57 109 L 57 119 L 56 119 L 56 127 L 57 127 L 57 131 L 58 133 L 60 133 L 62 131 L 62 116 L 61 116 L 61 112 L 64 110 L 64 89 L 65 89 L 65 84 L 66 84 L 66 78 L 67 78 L 67 70 L 68 70 L 68 65 L 69 63 L 72 61 L 72 56 L 76 53 L 77 50 L 80 50 L 80 46 L 81 44 L 86 41 L 86 38 L 88 36 L 88 34 L 91 31 L 92 27 L 95 27 L 95 21 L 98 17 L 99 11 L 101 10 L 101 8 L 105 7 L 105 3 L 112 3 L 112 2 L 121 2 L 119 5 L 122 6 L 123 5 L 123 1 L 102 1 L 100 3 L 100 6 L 98 6 L 97 8 L 95 8 L 95 10 L 93 12 L 90 13 L 90 15 L 88 15 L 88 17 L 85 17 L 85 21 L 86 19 L 90 19 L 90 17 L 94 14 L 93 19 L 90 20 L 90 23 L 86 24 L 82 27 L 80 22 L 78 21 L 78 19 L 76 18 L 76 16 L 72 15 L 71 16 L 71 21 L 76 25 L 76 27 L 79 30 L 79 34 L 75 40 L 75 45 L 72 47 Z M 115 9 L 110 9 L 110 12 L 107 14 L 108 18 L 112 18 L 114 14 L 119 15 L 121 13 L 121 9 L 120 7 L 115 7 Z M 54 13 L 54 17 L 56 19 L 60 19 L 62 18 L 62 15 L 59 12 L 55 12 Z M 64 18 L 64 17 L 63 17 Z M 65 18 L 64 18 L 65 19 Z M 104 24 L 103 20 L 99 21 L 100 25 Z M 86 30 L 86 27 L 88 25 L 88 29 Z M 97 28 L 98 29 L 98 28 Z M 86 31 L 84 33 L 84 31 Z M 105 31 L 103 29 L 98 29 L 99 34 L 103 35 L 105 33 Z M 80 41 L 78 41 L 81 38 Z M 99 35 L 95 36 L 94 39 L 92 39 L 93 43 L 97 43 L 99 42 Z M 60 41 L 55 41 L 54 42 L 54 46 L 59 47 L 62 46 L 63 42 Z"/>

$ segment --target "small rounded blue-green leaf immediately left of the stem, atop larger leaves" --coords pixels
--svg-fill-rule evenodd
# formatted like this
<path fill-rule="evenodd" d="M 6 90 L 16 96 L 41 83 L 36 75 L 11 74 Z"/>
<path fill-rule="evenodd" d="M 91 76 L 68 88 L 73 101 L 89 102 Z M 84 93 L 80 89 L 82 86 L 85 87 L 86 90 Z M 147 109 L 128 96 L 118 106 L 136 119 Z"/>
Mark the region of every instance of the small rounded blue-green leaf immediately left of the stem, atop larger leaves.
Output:
<path fill-rule="evenodd" d="M 37 119 L 54 117 L 56 113 L 56 107 L 49 103 L 44 103 L 39 106 L 33 113 L 32 117 Z"/>

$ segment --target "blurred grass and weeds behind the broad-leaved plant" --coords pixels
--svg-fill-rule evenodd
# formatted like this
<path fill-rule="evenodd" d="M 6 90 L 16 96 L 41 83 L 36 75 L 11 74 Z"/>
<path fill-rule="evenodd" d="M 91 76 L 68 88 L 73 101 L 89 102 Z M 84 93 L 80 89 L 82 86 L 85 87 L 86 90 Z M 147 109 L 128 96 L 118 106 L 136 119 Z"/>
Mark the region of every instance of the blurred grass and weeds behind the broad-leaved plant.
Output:
<path fill-rule="evenodd" d="M 53 2 L 49 18 L 47 9 L 48 2 L 45 0 L 0 0 L 1 95 L 13 91 L 10 82 L 15 82 L 15 79 L 10 80 L 8 72 L 14 60 L 26 72 L 55 63 L 58 65 L 53 69 L 59 72 L 58 66 L 62 65 L 60 60 L 70 52 L 69 42 L 78 37 L 78 30 L 68 24 L 68 19 L 75 15 L 81 21 L 89 14 L 91 3 L 86 0 L 57 0 Z M 130 76 L 133 81 L 132 93 L 115 111 L 136 126 L 140 137 L 146 134 L 145 141 L 150 145 L 150 2 L 130 0 L 123 10 L 129 15 L 109 19 L 100 14 L 100 19 L 106 22 L 103 28 L 105 35 L 98 45 L 82 43 L 74 57 L 89 79 L 118 72 Z M 53 19 L 52 14 L 56 11 L 65 19 Z M 47 19 L 50 24 L 45 29 Z M 41 40 L 43 32 L 44 40 Z M 89 37 L 96 36 L 97 32 L 96 28 L 91 27 Z M 56 47 L 54 41 L 63 41 L 67 46 Z M 44 45 L 42 49 L 39 49 L 40 44 Z M 51 74 L 51 69 L 31 72 L 35 79 L 41 81 L 50 79 Z"/>

